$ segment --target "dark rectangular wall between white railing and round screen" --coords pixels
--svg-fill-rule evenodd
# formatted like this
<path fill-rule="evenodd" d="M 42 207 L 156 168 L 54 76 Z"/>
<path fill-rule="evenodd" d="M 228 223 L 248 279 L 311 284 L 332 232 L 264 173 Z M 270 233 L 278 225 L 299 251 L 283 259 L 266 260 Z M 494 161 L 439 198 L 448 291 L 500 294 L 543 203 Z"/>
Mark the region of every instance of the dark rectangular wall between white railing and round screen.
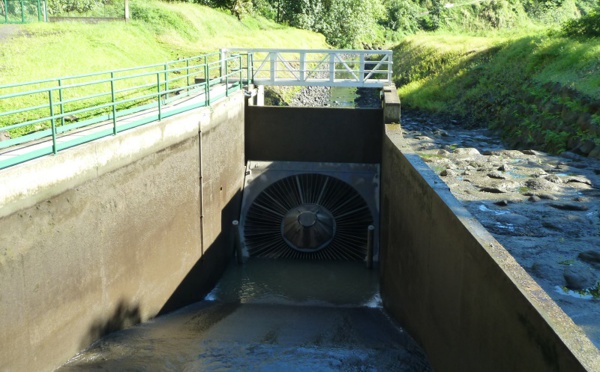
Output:
<path fill-rule="evenodd" d="M 382 109 L 246 109 L 246 159 L 379 163 Z"/>

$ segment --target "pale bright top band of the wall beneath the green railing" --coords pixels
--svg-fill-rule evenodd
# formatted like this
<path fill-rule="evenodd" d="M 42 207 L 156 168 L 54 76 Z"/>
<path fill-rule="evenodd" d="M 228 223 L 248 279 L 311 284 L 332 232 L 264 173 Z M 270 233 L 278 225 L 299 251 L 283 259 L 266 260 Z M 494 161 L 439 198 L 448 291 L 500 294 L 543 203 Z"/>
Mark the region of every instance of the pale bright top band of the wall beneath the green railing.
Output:
<path fill-rule="evenodd" d="M 0 218 L 198 135 L 203 107 L 0 170 Z"/>

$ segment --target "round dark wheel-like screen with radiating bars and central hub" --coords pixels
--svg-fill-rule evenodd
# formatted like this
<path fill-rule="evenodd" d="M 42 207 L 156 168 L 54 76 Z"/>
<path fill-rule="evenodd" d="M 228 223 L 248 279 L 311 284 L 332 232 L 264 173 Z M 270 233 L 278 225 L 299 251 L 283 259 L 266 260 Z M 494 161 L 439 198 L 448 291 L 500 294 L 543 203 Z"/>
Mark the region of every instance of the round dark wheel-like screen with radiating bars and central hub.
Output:
<path fill-rule="evenodd" d="M 369 207 L 347 183 L 322 174 L 283 178 L 261 192 L 246 213 L 250 256 L 363 260 Z"/>

